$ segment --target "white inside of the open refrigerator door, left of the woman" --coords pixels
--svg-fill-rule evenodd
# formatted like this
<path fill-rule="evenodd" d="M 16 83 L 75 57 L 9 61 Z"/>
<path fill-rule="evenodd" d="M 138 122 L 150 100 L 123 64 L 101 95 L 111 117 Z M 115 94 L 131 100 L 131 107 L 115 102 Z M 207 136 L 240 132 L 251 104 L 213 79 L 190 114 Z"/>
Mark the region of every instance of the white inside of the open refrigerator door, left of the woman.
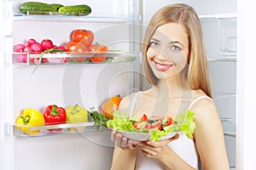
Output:
<path fill-rule="evenodd" d="M 137 54 L 130 55 L 132 60 L 126 60 L 124 54 L 105 64 L 42 64 L 32 73 L 36 65 L 15 63 L 13 46 L 26 43 L 29 38 L 38 42 L 49 38 L 55 44 L 65 45 L 71 41 L 73 30 L 86 29 L 94 32 L 94 42 L 107 45 L 109 51 L 135 51 L 137 1 L 89 0 L 85 3 L 92 8 L 88 17 L 26 16 L 18 11 L 24 2 L 27 1 L 4 0 L 1 3 L 4 10 L 1 9 L 0 169 L 109 169 L 113 142 L 108 130 L 87 132 L 86 127 L 84 132 L 65 131 L 65 134 L 64 129 L 61 134 L 42 130 L 38 136 L 30 137 L 15 134 L 13 124 L 15 117 L 26 108 L 44 112 L 47 105 L 67 108 L 79 104 L 87 110 L 91 107 L 99 110 L 111 96 L 131 93 L 139 83 L 135 81 Z M 84 1 L 58 3 L 73 5 L 84 4 Z"/>

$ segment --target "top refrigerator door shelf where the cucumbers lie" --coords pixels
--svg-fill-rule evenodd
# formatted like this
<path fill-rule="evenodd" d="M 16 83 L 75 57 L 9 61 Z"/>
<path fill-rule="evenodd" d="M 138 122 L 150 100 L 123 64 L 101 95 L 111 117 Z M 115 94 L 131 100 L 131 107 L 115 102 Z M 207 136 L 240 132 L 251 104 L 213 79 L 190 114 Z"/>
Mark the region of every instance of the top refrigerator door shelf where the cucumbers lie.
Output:
<path fill-rule="evenodd" d="M 52 3 L 50 0 L 44 0 L 44 3 Z M 77 4 L 86 4 L 91 8 L 90 13 L 85 14 L 60 14 L 58 12 L 47 12 L 47 11 L 27 11 L 26 13 L 20 12 L 20 1 L 14 2 L 14 15 L 15 17 L 22 18 L 49 18 L 49 17 L 58 17 L 58 18 L 101 18 L 101 19 L 123 19 L 123 20 L 138 20 L 140 16 L 138 14 L 139 10 L 139 1 L 138 0 L 87 0 L 86 3 L 82 0 L 77 0 Z M 75 5 L 72 1 L 61 1 L 63 6 Z"/>

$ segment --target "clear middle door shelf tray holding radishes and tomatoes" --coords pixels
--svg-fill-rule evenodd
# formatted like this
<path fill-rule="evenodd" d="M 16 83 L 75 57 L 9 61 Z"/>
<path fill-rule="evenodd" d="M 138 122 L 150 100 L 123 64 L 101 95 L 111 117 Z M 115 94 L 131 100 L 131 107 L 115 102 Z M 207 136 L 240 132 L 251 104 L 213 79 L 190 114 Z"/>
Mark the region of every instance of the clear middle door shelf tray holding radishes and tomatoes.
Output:
<path fill-rule="evenodd" d="M 108 51 L 102 52 L 61 52 L 49 54 L 13 53 L 13 65 L 74 65 L 74 64 L 111 64 L 137 62 L 140 59 L 139 52 Z M 42 58 L 40 60 L 40 58 Z M 102 61 L 92 61 L 98 58 Z M 101 59 L 103 58 L 103 59 Z"/>

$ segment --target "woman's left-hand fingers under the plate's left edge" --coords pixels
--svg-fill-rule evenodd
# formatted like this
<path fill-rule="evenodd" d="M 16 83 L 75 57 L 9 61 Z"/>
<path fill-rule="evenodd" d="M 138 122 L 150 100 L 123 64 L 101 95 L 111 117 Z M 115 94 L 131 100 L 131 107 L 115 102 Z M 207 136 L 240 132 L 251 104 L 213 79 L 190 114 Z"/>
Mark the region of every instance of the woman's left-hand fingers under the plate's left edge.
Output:
<path fill-rule="evenodd" d="M 115 146 L 125 150 L 134 150 L 136 148 L 135 144 L 139 142 L 136 140 L 126 139 L 122 134 L 112 131 L 111 140 L 115 143 Z"/>

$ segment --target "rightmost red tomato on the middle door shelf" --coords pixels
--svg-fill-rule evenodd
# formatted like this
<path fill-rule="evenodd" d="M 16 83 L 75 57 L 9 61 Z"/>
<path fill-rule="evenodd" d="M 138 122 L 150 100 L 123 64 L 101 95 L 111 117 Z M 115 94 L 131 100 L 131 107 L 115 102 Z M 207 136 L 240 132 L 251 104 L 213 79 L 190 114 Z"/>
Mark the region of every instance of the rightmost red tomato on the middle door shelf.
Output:
<path fill-rule="evenodd" d="M 102 52 L 108 52 L 108 47 L 105 45 L 101 45 L 98 43 L 92 44 L 89 46 L 89 51 L 94 52 L 95 54 L 100 54 Z M 104 61 L 107 57 L 105 56 L 99 56 L 99 57 L 90 57 L 90 61 L 93 63 L 101 63 Z"/>

